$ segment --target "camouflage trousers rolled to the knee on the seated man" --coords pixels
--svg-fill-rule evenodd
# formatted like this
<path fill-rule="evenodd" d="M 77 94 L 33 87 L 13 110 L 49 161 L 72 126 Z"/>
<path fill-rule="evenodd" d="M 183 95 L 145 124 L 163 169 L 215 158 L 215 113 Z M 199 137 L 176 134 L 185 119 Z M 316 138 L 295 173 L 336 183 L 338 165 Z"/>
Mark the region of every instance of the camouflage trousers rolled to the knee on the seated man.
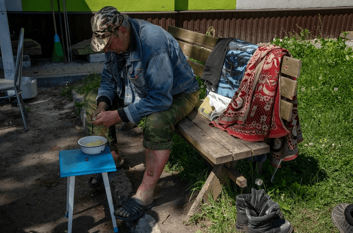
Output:
<path fill-rule="evenodd" d="M 87 121 L 91 120 L 91 114 L 97 110 L 96 98 L 98 88 L 92 89 L 86 95 L 86 116 Z M 151 150 L 172 149 L 172 136 L 174 125 L 183 119 L 195 107 L 199 100 L 199 91 L 190 94 L 181 93 L 173 97 L 173 103 L 168 110 L 155 112 L 146 118 L 146 124 L 143 127 L 143 146 Z M 117 98 L 108 110 L 116 110 L 124 107 L 123 101 Z M 104 126 L 95 126 L 87 123 L 88 135 L 100 135 L 108 139 L 109 146 L 116 145 L 115 125 L 109 128 Z"/>

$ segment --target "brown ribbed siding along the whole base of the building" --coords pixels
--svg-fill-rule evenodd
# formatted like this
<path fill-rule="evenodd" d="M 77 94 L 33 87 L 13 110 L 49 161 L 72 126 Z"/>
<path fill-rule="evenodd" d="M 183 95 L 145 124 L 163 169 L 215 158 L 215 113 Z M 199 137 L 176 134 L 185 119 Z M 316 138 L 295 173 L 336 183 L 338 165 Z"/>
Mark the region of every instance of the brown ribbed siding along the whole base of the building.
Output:
<path fill-rule="evenodd" d="M 259 11 L 180 11 L 127 13 L 168 30 L 168 25 L 182 27 L 203 34 L 210 26 L 217 37 L 236 37 L 251 43 L 269 42 L 307 29 L 313 37 L 336 38 L 342 31 L 353 31 L 353 7 L 324 9 L 284 9 Z M 90 19 L 93 13 L 68 13 L 71 44 L 92 36 Z M 63 23 L 63 17 L 62 23 Z M 51 12 L 8 12 L 11 32 L 25 28 L 25 38 L 42 45 L 43 58 L 50 58 L 54 43 Z M 56 13 L 58 35 L 61 38 L 59 16 Z M 65 42 L 65 30 L 63 29 Z"/>

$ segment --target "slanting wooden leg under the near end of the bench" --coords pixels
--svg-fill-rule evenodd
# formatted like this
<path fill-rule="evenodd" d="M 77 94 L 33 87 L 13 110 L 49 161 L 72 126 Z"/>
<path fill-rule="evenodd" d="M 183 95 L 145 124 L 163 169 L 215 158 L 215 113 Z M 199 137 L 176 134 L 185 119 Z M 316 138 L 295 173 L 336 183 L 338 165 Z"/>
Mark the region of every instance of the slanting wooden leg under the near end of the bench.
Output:
<path fill-rule="evenodd" d="M 214 200 L 218 198 L 222 190 L 221 181 L 224 180 L 222 167 L 223 164 L 218 164 L 213 167 L 198 197 L 192 203 L 192 206 L 187 215 L 191 216 L 198 212 L 200 210 L 199 207 L 204 203 L 210 204 L 208 200 L 210 194 L 212 194 Z"/>

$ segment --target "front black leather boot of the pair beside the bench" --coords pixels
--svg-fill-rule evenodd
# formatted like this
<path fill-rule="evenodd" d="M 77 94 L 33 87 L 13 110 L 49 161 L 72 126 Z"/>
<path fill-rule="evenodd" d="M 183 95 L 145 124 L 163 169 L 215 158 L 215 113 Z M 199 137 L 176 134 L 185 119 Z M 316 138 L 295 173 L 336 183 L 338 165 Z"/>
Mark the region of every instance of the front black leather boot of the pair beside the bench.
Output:
<path fill-rule="evenodd" d="M 293 226 L 289 221 L 278 217 L 280 206 L 269 200 L 261 211 L 257 211 L 250 203 L 246 207 L 249 220 L 247 233 L 292 233 Z"/>

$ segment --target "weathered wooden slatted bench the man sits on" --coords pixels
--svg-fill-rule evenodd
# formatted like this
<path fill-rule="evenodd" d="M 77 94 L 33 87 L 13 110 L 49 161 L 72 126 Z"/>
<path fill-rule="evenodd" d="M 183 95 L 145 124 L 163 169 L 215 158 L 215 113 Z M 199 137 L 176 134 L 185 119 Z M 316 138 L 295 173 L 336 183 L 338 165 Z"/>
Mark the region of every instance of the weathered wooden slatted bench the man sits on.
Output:
<path fill-rule="evenodd" d="M 189 58 L 206 63 L 218 38 L 207 36 L 198 32 L 168 26 L 168 32 L 176 38 L 192 67 L 194 73 L 202 76 L 204 65 Z M 291 99 L 296 95 L 297 81 L 284 77 L 299 78 L 301 61 L 284 57 L 281 65 L 281 96 Z M 281 100 L 281 117 L 289 120 L 293 105 Z M 188 215 L 199 210 L 203 203 L 209 203 L 208 197 L 212 194 L 214 200 L 221 192 L 221 184 L 225 183 L 224 173 L 227 174 L 240 187 L 247 186 L 247 180 L 234 165 L 241 159 L 269 153 L 269 146 L 263 142 L 246 142 L 230 136 L 227 132 L 208 125 L 210 121 L 193 110 L 188 116 L 176 125 L 177 132 L 185 141 L 195 148 L 212 166 L 213 169 L 202 187 L 198 197 L 194 200 Z"/>

